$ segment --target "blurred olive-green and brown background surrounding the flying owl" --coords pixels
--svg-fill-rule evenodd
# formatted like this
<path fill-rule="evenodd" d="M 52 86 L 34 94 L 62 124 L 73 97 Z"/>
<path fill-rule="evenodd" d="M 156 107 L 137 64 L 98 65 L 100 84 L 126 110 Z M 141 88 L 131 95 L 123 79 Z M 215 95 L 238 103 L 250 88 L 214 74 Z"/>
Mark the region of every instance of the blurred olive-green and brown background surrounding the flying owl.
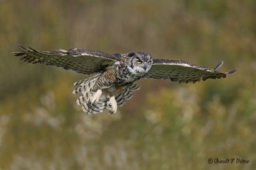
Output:
<path fill-rule="evenodd" d="M 0 169 L 255 169 L 256 1 L 0 1 Z M 73 47 L 148 52 L 222 80 L 140 80 L 116 115 L 86 115 L 81 74 L 11 52 Z M 247 159 L 248 164 L 208 164 Z"/>

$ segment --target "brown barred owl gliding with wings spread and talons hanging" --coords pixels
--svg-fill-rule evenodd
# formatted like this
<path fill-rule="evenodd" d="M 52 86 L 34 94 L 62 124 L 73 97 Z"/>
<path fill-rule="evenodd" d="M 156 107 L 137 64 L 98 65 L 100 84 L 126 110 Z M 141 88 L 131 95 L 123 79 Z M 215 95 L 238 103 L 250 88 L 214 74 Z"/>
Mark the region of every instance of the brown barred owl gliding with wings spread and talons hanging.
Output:
<path fill-rule="evenodd" d="M 33 48 L 20 48 L 21 51 L 14 54 L 24 62 L 62 67 L 84 75 L 94 74 L 74 83 L 77 88 L 73 94 L 80 95 L 76 102 L 88 114 L 105 109 L 111 114 L 116 113 L 117 106 L 123 106 L 132 98 L 133 92 L 140 89 L 134 82 L 141 78 L 195 83 L 208 78 L 225 78 L 236 71 L 218 72 L 223 62 L 209 69 L 182 60 L 152 59 L 152 55 L 143 52 L 109 54 L 82 48 L 38 52 Z"/>

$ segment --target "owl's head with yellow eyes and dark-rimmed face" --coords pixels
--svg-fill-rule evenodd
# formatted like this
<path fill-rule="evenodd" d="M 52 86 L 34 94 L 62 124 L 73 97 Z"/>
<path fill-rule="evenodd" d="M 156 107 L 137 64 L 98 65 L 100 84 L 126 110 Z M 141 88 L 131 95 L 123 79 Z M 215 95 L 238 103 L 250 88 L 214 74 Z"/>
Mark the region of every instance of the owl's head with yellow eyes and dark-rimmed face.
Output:
<path fill-rule="evenodd" d="M 125 53 L 125 66 L 132 74 L 147 73 L 152 66 L 152 56 L 149 53 Z"/>

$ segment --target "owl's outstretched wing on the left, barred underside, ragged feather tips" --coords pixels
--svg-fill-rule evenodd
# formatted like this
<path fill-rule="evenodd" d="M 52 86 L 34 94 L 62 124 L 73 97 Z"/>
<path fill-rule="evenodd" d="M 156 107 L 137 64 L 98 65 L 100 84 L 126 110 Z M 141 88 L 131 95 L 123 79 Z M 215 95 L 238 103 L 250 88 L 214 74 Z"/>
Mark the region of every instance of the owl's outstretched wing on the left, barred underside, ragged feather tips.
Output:
<path fill-rule="evenodd" d="M 14 52 L 14 55 L 20 57 L 20 60 L 24 62 L 62 67 L 82 74 L 100 73 L 106 67 L 113 66 L 116 60 L 119 60 L 118 55 L 82 48 L 50 52 L 38 52 L 33 48 L 24 48 L 23 46 L 20 48 L 21 51 Z"/>

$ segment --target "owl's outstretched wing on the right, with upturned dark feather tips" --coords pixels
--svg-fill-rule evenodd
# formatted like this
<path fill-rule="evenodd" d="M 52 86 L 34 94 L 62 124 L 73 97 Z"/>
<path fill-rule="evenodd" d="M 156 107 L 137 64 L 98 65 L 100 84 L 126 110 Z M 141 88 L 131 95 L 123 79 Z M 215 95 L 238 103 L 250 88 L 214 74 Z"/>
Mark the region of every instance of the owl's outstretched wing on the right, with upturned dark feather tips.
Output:
<path fill-rule="evenodd" d="M 179 83 L 195 83 L 208 78 L 225 78 L 227 74 L 236 72 L 236 70 L 227 73 L 218 72 L 217 70 L 222 65 L 223 62 L 220 62 L 214 69 L 209 69 L 208 67 L 194 66 L 182 60 L 154 59 L 151 69 L 145 74 L 145 78 L 170 79 Z"/>

